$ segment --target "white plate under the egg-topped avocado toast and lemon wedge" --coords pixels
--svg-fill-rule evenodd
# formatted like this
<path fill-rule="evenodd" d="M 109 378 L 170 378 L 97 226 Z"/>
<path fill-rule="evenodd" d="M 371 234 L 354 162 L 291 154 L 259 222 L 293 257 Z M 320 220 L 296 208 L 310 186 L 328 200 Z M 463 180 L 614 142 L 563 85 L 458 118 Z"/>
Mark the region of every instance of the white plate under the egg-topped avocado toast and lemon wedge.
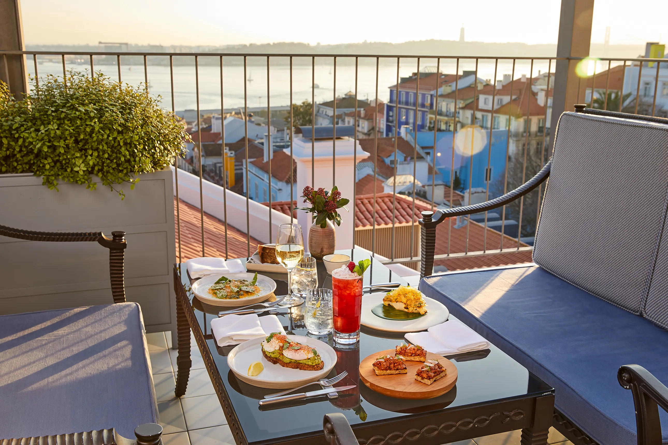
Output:
<path fill-rule="evenodd" d="M 247 384 L 259 386 L 261 388 L 287 389 L 315 382 L 319 380 L 334 368 L 336 364 L 336 352 L 327 343 L 316 340 L 311 337 L 288 336 L 293 342 L 298 342 L 315 348 L 320 354 L 325 366 L 319 371 L 303 371 L 292 368 L 283 368 L 279 364 L 273 364 L 267 361 L 262 355 L 261 343 L 265 340 L 254 338 L 236 346 L 227 356 L 227 366 L 234 372 L 234 375 Z M 253 362 L 262 362 L 265 369 L 255 377 L 248 376 L 248 366 Z"/>

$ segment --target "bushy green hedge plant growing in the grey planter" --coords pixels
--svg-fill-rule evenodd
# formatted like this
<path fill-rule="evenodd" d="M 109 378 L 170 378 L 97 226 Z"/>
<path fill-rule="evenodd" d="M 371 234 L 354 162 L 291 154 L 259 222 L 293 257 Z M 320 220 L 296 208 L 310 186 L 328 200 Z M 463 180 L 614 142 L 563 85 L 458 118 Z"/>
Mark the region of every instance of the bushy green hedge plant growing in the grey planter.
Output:
<path fill-rule="evenodd" d="M 118 185 L 132 189 L 139 173 L 172 164 L 188 139 L 178 117 L 142 86 L 100 72 L 31 81 L 23 101 L 0 81 L 0 173 L 33 173 L 56 190 L 58 181 L 95 189 L 97 175 L 123 199 Z"/>

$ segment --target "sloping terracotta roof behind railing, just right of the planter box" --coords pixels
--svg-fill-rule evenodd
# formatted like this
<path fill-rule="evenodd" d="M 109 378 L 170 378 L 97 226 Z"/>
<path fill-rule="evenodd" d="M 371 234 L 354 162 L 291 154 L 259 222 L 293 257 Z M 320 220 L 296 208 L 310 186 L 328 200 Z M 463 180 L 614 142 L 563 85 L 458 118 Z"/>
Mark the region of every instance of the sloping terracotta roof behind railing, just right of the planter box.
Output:
<path fill-rule="evenodd" d="M 202 220 L 200 209 L 181 199 L 178 200 L 181 230 L 181 258 L 184 262 L 202 256 Z M 174 225 L 178 237 L 178 221 L 176 221 L 176 197 L 174 198 Z M 248 238 L 246 234 L 227 226 L 229 258 L 245 258 L 248 256 Z M 251 254 L 262 244 L 251 237 Z M 225 223 L 204 212 L 204 253 L 206 256 L 225 258 Z M 176 240 L 176 258 L 178 258 L 178 238 Z"/>

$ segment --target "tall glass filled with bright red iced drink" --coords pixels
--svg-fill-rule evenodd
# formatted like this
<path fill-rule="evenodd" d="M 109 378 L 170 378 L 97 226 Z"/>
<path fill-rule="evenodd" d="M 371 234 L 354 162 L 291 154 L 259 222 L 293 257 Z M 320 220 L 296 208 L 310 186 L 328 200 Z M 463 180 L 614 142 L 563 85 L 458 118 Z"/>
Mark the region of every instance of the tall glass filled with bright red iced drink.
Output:
<path fill-rule="evenodd" d="M 362 277 L 343 266 L 332 271 L 334 341 L 353 344 L 359 341 L 362 312 Z"/>

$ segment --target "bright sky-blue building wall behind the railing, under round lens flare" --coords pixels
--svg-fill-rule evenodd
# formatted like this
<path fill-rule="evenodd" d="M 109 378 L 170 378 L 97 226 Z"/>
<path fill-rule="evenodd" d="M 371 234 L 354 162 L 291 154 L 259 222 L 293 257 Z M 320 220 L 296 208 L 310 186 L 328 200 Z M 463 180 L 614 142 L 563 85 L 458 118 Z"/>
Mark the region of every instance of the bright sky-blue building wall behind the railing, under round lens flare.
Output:
<path fill-rule="evenodd" d="M 506 169 L 506 149 L 508 147 L 508 131 L 506 129 L 498 130 L 480 130 L 486 135 L 486 143 L 482 149 L 471 157 L 463 155 L 455 150 L 454 164 L 452 163 L 452 131 L 436 132 L 436 168 L 441 173 L 444 183 L 450 185 L 450 174 L 457 175 L 462 184 L 462 189 L 469 187 L 473 189 L 487 187 L 487 182 L 498 181 L 503 178 Z M 460 132 L 458 132 L 460 133 Z M 413 133 L 409 133 L 413 137 Z M 457 134 L 456 134 L 457 135 Z M 455 137 L 456 137 L 455 135 Z M 490 143 L 491 137 L 491 143 Z M 418 145 L 424 151 L 432 151 L 434 147 L 434 131 L 419 131 Z M 491 155 L 490 155 L 491 147 Z M 489 156 L 489 169 L 488 165 Z M 471 174 L 472 171 L 472 174 Z M 490 199 L 497 197 L 492 195 L 490 187 Z"/>

